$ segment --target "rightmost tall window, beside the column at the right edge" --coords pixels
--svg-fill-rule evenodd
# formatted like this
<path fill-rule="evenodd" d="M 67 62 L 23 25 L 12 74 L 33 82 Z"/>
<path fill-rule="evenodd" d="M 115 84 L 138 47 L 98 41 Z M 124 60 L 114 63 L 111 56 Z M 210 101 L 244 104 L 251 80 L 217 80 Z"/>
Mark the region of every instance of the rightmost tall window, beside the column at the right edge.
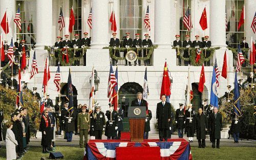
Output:
<path fill-rule="evenodd" d="M 238 22 L 244 6 L 243 0 L 226 0 L 226 14 L 227 14 L 227 31 L 226 41 L 229 42 L 230 47 L 238 48 L 238 44 L 244 37 L 244 24 L 238 31 Z"/>

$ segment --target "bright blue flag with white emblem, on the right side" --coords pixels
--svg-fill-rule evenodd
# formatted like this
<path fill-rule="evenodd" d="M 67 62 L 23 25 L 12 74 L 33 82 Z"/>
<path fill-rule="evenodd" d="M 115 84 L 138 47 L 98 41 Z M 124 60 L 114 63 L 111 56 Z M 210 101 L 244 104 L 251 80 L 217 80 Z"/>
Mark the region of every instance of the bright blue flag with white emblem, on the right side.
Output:
<path fill-rule="evenodd" d="M 216 73 L 215 68 L 212 70 L 211 87 L 210 87 L 210 105 L 219 108 L 218 103 L 218 90 L 216 84 Z"/>

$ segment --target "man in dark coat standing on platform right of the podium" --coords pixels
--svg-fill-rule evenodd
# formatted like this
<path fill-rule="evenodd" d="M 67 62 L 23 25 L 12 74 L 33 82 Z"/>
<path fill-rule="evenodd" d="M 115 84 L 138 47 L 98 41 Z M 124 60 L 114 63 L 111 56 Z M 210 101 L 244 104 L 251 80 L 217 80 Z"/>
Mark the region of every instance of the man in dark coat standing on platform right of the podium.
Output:
<path fill-rule="evenodd" d="M 167 142 L 168 130 L 170 129 L 170 118 L 171 118 L 171 110 L 170 103 L 166 102 L 166 96 L 161 96 L 160 103 L 157 103 L 157 124 L 159 130 L 159 141 L 165 140 Z"/>

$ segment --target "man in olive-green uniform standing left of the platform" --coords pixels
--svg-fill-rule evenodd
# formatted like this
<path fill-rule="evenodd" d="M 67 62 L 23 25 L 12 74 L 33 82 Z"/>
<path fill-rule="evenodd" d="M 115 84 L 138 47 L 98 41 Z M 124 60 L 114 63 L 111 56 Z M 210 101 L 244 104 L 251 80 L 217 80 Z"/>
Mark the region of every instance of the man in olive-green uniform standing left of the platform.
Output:
<path fill-rule="evenodd" d="M 77 128 L 80 133 L 79 146 L 83 148 L 86 146 L 88 141 L 88 132 L 90 131 L 90 114 L 86 112 L 86 106 L 82 106 L 82 112 L 78 113 L 77 117 Z M 83 142 L 84 136 L 84 142 Z"/>

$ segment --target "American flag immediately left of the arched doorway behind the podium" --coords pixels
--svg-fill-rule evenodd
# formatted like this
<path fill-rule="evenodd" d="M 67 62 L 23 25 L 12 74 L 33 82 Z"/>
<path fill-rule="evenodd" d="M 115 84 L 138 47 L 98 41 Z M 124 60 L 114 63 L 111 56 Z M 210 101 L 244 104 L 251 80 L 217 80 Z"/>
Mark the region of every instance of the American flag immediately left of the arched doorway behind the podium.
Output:
<path fill-rule="evenodd" d="M 117 85 L 116 76 L 113 71 L 112 65 L 110 65 L 110 75 L 109 75 L 109 86 L 108 86 L 108 98 L 109 102 L 112 103 L 113 100 L 113 89 Z"/>

